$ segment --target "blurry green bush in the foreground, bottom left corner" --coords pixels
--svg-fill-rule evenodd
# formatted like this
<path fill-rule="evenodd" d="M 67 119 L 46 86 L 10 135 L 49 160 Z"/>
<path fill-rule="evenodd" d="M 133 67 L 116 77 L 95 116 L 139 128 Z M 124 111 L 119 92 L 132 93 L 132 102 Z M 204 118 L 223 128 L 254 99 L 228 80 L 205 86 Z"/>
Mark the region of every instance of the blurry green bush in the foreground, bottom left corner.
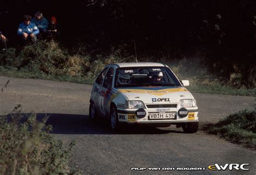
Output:
<path fill-rule="evenodd" d="M 16 114 L 0 118 L 0 174 L 74 173 L 69 167 L 71 149 L 49 134 L 51 126 L 36 120 L 36 114 L 24 121 L 19 107 Z"/>

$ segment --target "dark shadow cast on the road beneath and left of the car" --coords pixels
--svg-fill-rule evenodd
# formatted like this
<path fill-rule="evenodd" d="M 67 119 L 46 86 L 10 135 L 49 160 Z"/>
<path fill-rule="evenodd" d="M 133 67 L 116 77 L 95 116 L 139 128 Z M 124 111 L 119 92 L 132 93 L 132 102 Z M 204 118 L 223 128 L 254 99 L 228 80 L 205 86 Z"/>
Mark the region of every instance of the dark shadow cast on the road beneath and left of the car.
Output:
<path fill-rule="evenodd" d="M 25 121 L 30 114 L 22 114 Z M 152 128 L 139 125 L 124 125 L 122 130 L 114 132 L 110 129 L 109 121 L 104 118 L 92 122 L 89 120 L 88 115 L 77 115 L 77 114 L 47 114 L 39 113 L 37 115 L 37 120 L 42 121 L 42 119 L 48 116 L 46 125 L 52 125 L 52 134 L 168 134 L 170 132 L 183 133 L 181 131 L 175 130 L 175 128 Z M 1 117 L 1 116 L 0 116 Z M 171 130 L 170 130 L 171 129 Z"/>

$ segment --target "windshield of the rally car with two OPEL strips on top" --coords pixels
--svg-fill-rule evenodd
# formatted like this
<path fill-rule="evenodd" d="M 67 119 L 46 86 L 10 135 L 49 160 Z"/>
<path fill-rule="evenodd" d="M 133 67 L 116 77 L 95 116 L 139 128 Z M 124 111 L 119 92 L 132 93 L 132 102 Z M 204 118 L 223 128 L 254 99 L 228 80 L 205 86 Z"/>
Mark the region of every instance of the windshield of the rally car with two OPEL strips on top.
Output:
<path fill-rule="evenodd" d="M 167 67 L 118 68 L 115 87 L 181 86 L 179 80 Z"/>

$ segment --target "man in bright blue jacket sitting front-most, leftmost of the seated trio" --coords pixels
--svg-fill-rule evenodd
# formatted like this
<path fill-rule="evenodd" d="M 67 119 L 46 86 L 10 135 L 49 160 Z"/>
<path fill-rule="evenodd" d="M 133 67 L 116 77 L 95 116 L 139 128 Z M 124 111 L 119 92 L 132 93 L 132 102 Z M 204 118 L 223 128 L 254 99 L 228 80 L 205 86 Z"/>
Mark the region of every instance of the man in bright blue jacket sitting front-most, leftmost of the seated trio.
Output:
<path fill-rule="evenodd" d="M 36 42 L 36 35 L 39 34 L 39 30 L 35 23 L 31 23 L 31 16 L 24 15 L 23 22 L 19 24 L 17 34 L 22 37 L 24 44 L 30 39 L 33 43 Z"/>

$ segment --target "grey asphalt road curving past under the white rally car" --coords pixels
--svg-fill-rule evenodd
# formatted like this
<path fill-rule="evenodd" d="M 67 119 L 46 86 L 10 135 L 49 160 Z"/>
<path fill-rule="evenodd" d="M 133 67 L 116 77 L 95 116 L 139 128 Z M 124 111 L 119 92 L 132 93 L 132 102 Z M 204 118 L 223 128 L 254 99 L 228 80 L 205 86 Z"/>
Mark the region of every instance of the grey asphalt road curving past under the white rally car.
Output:
<path fill-rule="evenodd" d="M 77 141 L 70 160 L 83 174 L 216 174 L 255 173 L 255 151 L 229 143 L 201 130 L 242 109 L 254 109 L 255 98 L 193 93 L 199 107 L 200 130 L 184 134 L 182 129 L 129 127 L 114 133 L 107 121 L 88 119 L 92 86 L 48 80 L 0 76 L 0 115 L 18 104 L 23 113 L 50 115 L 53 135 L 68 145 Z M 250 171 L 210 171 L 209 165 L 250 164 Z M 205 167 L 205 171 L 132 171 L 131 167 Z"/>

